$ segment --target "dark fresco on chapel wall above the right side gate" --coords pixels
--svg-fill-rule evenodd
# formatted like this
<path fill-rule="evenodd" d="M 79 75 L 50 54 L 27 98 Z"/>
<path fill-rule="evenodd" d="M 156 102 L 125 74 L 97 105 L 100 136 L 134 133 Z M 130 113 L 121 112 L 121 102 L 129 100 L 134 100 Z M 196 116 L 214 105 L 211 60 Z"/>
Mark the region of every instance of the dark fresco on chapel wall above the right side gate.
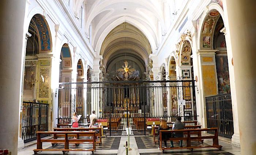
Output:
<path fill-rule="evenodd" d="M 219 94 L 230 93 L 229 66 L 227 56 L 216 56 Z"/>

